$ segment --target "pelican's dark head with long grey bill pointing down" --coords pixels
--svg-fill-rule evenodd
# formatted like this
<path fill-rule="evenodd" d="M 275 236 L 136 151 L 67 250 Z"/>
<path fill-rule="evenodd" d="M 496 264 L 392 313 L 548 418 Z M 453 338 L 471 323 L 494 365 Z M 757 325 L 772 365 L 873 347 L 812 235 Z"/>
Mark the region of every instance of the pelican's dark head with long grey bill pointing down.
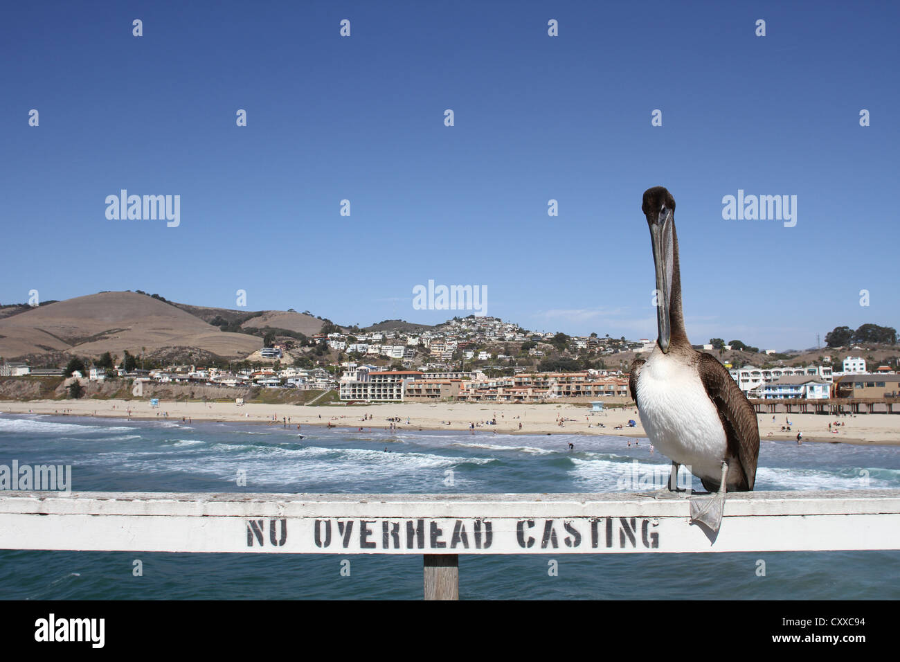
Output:
<path fill-rule="evenodd" d="M 671 340 L 670 310 L 672 292 L 672 265 L 675 252 L 675 198 L 663 186 L 653 186 L 644 191 L 641 211 L 650 226 L 653 243 L 653 264 L 656 267 L 656 325 L 660 336 L 656 340 L 664 353 L 669 353 Z"/>

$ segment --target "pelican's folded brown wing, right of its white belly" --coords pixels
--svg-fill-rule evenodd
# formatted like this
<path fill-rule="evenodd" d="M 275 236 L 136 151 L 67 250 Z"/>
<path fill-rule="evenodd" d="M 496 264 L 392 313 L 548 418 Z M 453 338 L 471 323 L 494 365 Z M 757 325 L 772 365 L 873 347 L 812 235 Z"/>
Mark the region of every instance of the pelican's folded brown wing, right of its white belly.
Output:
<path fill-rule="evenodd" d="M 729 454 L 733 458 L 731 464 L 734 464 L 734 458 L 740 464 L 743 480 L 736 491 L 750 492 L 756 482 L 756 463 L 760 457 L 760 428 L 753 405 L 712 354 L 700 354 L 698 371 L 725 428 Z M 729 468 L 729 474 L 731 471 Z"/>

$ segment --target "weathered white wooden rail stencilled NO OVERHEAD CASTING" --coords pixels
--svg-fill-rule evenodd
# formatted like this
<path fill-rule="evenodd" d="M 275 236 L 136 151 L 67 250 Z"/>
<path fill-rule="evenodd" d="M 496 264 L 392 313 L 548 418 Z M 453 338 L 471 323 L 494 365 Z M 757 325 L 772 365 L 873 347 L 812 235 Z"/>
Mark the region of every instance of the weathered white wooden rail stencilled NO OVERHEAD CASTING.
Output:
<path fill-rule="evenodd" d="M 5 493 L 0 549 L 281 554 L 900 549 L 900 490 L 729 494 L 715 540 L 689 524 L 687 499 L 637 494 Z"/>

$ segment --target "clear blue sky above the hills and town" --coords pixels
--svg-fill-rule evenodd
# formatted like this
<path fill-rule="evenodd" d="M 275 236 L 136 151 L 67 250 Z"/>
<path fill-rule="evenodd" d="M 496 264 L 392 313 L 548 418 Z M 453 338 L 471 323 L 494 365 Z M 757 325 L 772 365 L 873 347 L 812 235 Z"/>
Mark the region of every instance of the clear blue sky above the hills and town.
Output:
<path fill-rule="evenodd" d="M 662 185 L 692 341 L 900 326 L 898 5 L 683 5 L 5 5 L 0 303 L 245 289 L 436 323 L 412 307 L 434 279 L 527 328 L 655 338 L 641 195 Z M 122 188 L 180 195 L 181 225 L 107 220 Z M 723 220 L 738 189 L 797 195 L 797 226 Z"/>

